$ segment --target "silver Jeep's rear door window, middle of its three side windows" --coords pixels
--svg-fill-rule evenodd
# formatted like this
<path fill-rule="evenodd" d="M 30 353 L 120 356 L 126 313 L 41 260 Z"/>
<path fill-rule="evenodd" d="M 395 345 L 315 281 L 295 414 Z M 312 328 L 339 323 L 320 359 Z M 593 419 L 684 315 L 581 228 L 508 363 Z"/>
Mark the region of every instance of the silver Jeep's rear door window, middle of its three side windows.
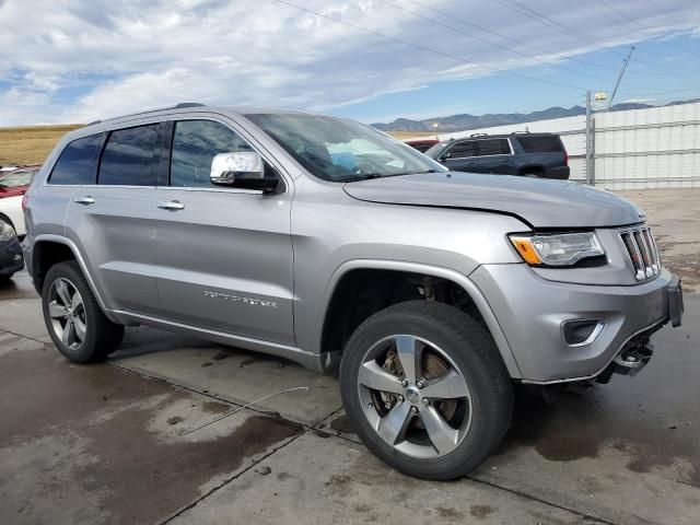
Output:
<path fill-rule="evenodd" d="M 97 184 L 155 186 L 159 137 L 158 124 L 112 131 L 102 153 Z"/>

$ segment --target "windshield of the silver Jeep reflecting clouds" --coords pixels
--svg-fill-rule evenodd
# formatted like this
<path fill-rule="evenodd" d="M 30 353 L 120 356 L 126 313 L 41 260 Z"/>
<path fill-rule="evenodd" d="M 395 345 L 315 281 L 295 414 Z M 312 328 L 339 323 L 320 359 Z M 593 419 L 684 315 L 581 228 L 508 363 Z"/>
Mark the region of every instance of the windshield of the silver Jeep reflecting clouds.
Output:
<path fill-rule="evenodd" d="M 352 120 L 299 114 L 256 114 L 246 118 L 324 180 L 345 183 L 446 171 L 411 147 Z"/>

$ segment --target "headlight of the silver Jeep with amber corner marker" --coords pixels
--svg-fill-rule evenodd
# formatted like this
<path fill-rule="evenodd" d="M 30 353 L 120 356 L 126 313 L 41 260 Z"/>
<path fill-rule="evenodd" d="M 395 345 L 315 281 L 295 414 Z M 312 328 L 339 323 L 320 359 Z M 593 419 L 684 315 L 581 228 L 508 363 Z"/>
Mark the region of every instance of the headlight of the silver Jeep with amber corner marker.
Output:
<path fill-rule="evenodd" d="M 528 265 L 572 266 L 581 259 L 605 255 L 593 232 L 553 235 L 510 235 L 511 243 Z"/>

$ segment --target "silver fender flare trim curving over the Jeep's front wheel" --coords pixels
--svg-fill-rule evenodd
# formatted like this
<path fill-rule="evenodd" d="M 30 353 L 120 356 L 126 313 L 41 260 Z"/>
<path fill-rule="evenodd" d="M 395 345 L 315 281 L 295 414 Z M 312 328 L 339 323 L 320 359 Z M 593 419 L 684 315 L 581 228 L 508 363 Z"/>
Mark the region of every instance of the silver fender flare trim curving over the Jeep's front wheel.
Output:
<path fill-rule="evenodd" d="M 464 273 L 452 270 L 450 268 L 421 265 L 419 262 L 407 262 L 401 260 L 388 259 L 352 259 L 345 261 L 342 265 L 336 268 L 335 272 L 330 277 L 330 280 L 328 281 L 328 284 L 326 285 L 326 290 L 324 291 L 324 295 L 318 308 L 318 314 L 316 316 L 315 330 L 317 336 L 317 348 L 314 349 L 314 351 L 320 353 L 323 328 L 326 322 L 326 315 L 328 313 L 328 305 L 330 304 L 330 300 L 336 291 L 338 282 L 348 271 L 357 269 L 396 270 L 411 273 L 424 273 L 428 276 L 440 277 L 460 285 L 469 294 L 475 305 L 479 310 L 479 313 L 483 317 L 483 320 L 486 322 L 487 327 L 491 332 L 491 337 L 493 337 L 493 341 L 499 349 L 499 353 L 501 354 L 503 363 L 505 364 L 505 368 L 508 369 L 511 377 L 523 377 L 523 374 L 517 365 L 515 357 L 513 355 L 513 351 L 511 350 L 501 325 L 495 318 L 495 315 L 493 314 L 489 302 L 474 283 L 474 281 L 471 281 L 468 276 L 465 276 Z M 324 361 L 328 360 L 326 359 Z"/>

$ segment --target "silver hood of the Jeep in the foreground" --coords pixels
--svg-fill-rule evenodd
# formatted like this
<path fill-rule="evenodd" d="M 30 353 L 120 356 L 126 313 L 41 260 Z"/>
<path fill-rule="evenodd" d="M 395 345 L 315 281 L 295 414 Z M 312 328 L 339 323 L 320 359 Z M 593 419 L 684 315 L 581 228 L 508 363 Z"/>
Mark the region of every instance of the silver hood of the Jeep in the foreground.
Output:
<path fill-rule="evenodd" d="M 443 172 L 358 180 L 343 189 L 369 202 L 506 213 L 536 229 L 620 226 L 644 220 L 632 202 L 570 180 Z"/>

